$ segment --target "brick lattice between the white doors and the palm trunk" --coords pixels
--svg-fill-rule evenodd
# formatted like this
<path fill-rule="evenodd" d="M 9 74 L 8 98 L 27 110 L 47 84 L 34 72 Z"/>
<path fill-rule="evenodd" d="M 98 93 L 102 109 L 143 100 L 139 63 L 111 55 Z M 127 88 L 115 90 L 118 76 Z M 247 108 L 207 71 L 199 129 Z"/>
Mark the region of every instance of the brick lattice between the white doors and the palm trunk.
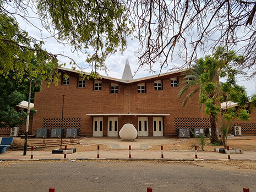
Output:
<path fill-rule="evenodd" d="M 210 128 L 210 118 L 174 118 L 175 133 L 178 129 Z"/>

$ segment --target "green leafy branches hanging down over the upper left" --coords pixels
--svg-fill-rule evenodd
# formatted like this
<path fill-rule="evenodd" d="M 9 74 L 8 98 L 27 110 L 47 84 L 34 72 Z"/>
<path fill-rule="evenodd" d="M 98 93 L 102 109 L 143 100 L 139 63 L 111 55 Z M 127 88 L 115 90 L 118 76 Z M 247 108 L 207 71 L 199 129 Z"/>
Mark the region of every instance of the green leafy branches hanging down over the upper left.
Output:
<path fill-rule="evenodd" d="M 1 18 L 0 25 L 4 34 L 0 36 L 1 48 L 7 54 L 7 62 L 13 55 L 29 60 L 35 54 L 39 63 L 51 63 L 53 69 L 59 67 L 58 56 L 43 50 L 42 40 L 37 40 L 20 29 L 15 17 L 22 17 L 27 23 L 30 22 L 29 11 L 35 10 L 42 26 L 50 32 L 59 43 L 72 46 L 72 51 L 81 51 L 86 54 L 85 62 L 92 66 L 92 72 L 98 69 L 106 70 L 106 58 L 117 50 L 124 51 L 126 48 L 126 36 L 130 34 L 133 25 L 129 24 L 128 11 L 122 1 L 4 1 L 0 0 Z M 12 12 L 10 8 L 15 12 Z M 9 8 L 9 9 L 8 9 Z M 128 28 L 129 25 L 129 28 Z M 14 32 L 12 32 L 14 31 Z M 11 48 L 15 48 L 11 50 Z M 17 49 L 17 51 L 15 51 Z M 79 67 L 72 58 L 70 64 Z M 22 60 L 22 59 L 21 59 Z M 1 62 L 1 61 L 0 61 Z M 24 66 L 21 63 L 18 69 Z M 12 67 L 4 68 L 1 74 L 7 73 Z M 20 72 L 20 70 L 18 70 Z M 93 76 L 93 74 L 92 74 Z"/>

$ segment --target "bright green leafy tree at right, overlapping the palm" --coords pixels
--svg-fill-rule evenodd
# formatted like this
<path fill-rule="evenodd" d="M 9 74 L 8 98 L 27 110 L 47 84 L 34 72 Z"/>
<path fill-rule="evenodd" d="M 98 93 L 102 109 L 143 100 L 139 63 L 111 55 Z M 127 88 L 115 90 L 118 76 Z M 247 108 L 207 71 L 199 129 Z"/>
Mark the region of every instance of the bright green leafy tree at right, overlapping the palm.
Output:
<path fill-rule="evenodd" d="M 214 130 L 216 131 L 216 119 L 218 119 L 218 115 L 221 113 L 220 103 L 222 102 L 237 102 L 239 108 L 237 111 L 232 109 L 224 111 L 220 117 L 221 120 L 218 120 L 218 122 L 222 122 L 222 120 L 230 121 L 232 118 L 249 120 L 249 114 L 246 113 L 244 108 L 244 105 L 249 101 L 249 97 L 244 87 L 236 84 L 236 75 L 242 72 L 239 72 L 234 67 L 239 67 L 243 62 L 244 58 L 242 56 L 237 56 L 234 51 L 227 52 L 225 47 L 218 47 L 213 57 L 206 56 L 198 61 L 198 64 L 204 68 L 200 81 L 205 84 L 203 87 L 204 93 L 199 96 L 199 101 L 204 104 L 205 113 L 210 116 L 212 130 L 213 126 L 215 126 Z M 210 76 L 213 72 L 216 74 L 216 78 L 211 80 Z M 219 86 L 219 77 L 226 79 L 221 87 Z M 230 122 L 229 127 L 231 127 L 231 124 L 232 122 Z M 227 137 L 228 127 L 222 125 L 224 124 L 220 123 L 219 128 L 222 134 L 222 142 L 224 142 L 224 138 Z M 211 138 L 211 141 L 217 141 L 217 138 Z"/>

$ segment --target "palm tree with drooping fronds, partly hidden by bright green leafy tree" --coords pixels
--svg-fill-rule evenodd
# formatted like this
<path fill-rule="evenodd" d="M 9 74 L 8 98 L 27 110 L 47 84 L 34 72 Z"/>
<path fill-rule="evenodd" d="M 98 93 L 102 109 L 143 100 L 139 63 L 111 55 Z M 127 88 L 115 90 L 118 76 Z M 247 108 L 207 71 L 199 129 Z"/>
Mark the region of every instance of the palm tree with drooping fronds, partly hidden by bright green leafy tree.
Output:
<path fill-rule="evenodd" d="M 192 69 L 190 69 L 184 76 L 184 81 L 181 81 L 181 83 L 178 84 L 178 86 L 181 86 L 185 84 L 181 91 L 179 91 L 178 98 L 181 98 L 183 94 L 185 94 L 191 87 L 195 88 L 189 94 L 186 95 L 186 97 L 183 100 L 182 107 L 186 106 L 187 101 L 189 98 L 192 98 L 195 93 L 199 92 L 199 96 L 204 94 L 203 87 L 206 83 L 202 83 L 200 81 L 201 75 L 205 72 L 205 69 L 201 67 L 199 64 L 195 64 Z M 209 81 L 214 82 L 216 79 L 216 72 L 210 73 Z M 209 97 L 214 97 L 214 94 Z M 200 105 L 200 111 L 203 108 L 203 103 Z M 215 143 L 217 142 L 217 133 L 216 133 L 216 117 L 214 114 L 210 114 L 210 127 L 211 127 L 211 142 Z"/>

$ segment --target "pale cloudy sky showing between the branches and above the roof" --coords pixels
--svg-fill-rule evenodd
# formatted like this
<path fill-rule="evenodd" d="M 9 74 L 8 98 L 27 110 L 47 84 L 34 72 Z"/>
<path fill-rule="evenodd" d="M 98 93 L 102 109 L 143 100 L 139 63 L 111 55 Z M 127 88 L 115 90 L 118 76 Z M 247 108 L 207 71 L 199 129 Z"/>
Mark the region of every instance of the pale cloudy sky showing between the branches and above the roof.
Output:
<path fill-rule="evenodd" d="M 30 13 L 30 16 L 36 17 L 36 15 L 34 13 Z M 19 25 L 21 26 L 21 28 L 28 31 L 32 37 L 36 37 L 37 39 L 40 39 L 41 37 L 46 38 L 46 37 L 50 36 L 50 34 L 48 34 L 48 32 L 42 28 L 39 19 L 30 19 L 30 21 L 32 21 L 32 23 L 34 25 L 36 25 L 38 28 L 40 28 L 42 30 L 42 32 L 40 32 L 39 29 L 36 29 L 34 26 L 31 26 L 31 25 L 25 23 L 23 21 L 23 19 L 21 19 L 21 18 L 17 18 L 17 21 L 18 21 Z M 88 65 L 86 65 L 84 62 L 86 59 L 86 56 L 83 53 L 77 53 L 77 52 L 73 53 L 70 50 L 70 47 L 63 46 L 63 45 L 57 43 L 57 41 L 53 38 L 46 39 L 45 45 L 43 47 L 45 47 L 48 52 L 51 52 L 53 54 L 61 53 L 68 57 L 73 58 L 75 62 L 77 62 L 77 63 L 79 63 L 79 65 L 81 65 L 81 67 L 87 68 L 87 69 L 85 69 L 85 72 L 89 72 L 89 73 L 91 72 L 91 68 Z M 126 51 L 123 52 L 123 54 L 120 54 L 117 52 L 117 53 L 113 54 L 112 56 L 110 56 L 109 58 L 107 58 L 107 60 L 105 62 L 107 65 L 107 68 L 108 68 L 107 75 L 112 78 L 121 79 L 123 70 L 124 70 L 124 65 L 126 64 L 126 59 L 128 59 L 130 68 L 134 75 L 135 74 L 134 72 L 138 69 L 138 59 L 137 58 L 138 58 L 139 54 L 136 53 L 138 48 L 139 48 L 138 40 L 136 40 L 136 39 L 131 40 L 130 38 L 128 38 L 127 39 L 127 49 L 126 49 Z M 62 63 L 69 63 L 69 59 L 65 58 L 65 57 L 59 57 L 59 61 Z M 161 73 L 167 72 L 174 65 L 180 66 L 180 65 L 184 64 L 184 62 L 181 61 L 181 59 L 178 59 L 178 57 L 175 57 L 175 55 L 173 57 L 173 60 L 172 61 L 169 60 L 168 63 L 169 63 L 169 66 L 167 68 L 163 69 Z M 70 65 L 66 65 L 66 67 L 71 68 Z M 143 78 L 145 76 L 159 74 L 160 65 L 159 64 L 154 65 L 153 69 L 156 71 L 156 73 L 154 73 L 154 74 L 152 74 L 152 73 L 149 74 L 149 71 L 147 69 L 148 68 L 146 68 L 146 67 L 140 68 L 133 78 L 138 79 L 138 78 Z M 98 73 L 100 73 L 101 75 L 106 75 L 105 72 L 103 72 L 103 71 L 98 71 Z M 237 81 L 238 81 L 239 85 L 243 85 L 246 87 L 246 91 L 247 91 L 248 95 L 252 95 L 255 93 L 254 80 L 245 80 L 244 78 L 239 77 L 239 78 L 237 78 Z"/>

